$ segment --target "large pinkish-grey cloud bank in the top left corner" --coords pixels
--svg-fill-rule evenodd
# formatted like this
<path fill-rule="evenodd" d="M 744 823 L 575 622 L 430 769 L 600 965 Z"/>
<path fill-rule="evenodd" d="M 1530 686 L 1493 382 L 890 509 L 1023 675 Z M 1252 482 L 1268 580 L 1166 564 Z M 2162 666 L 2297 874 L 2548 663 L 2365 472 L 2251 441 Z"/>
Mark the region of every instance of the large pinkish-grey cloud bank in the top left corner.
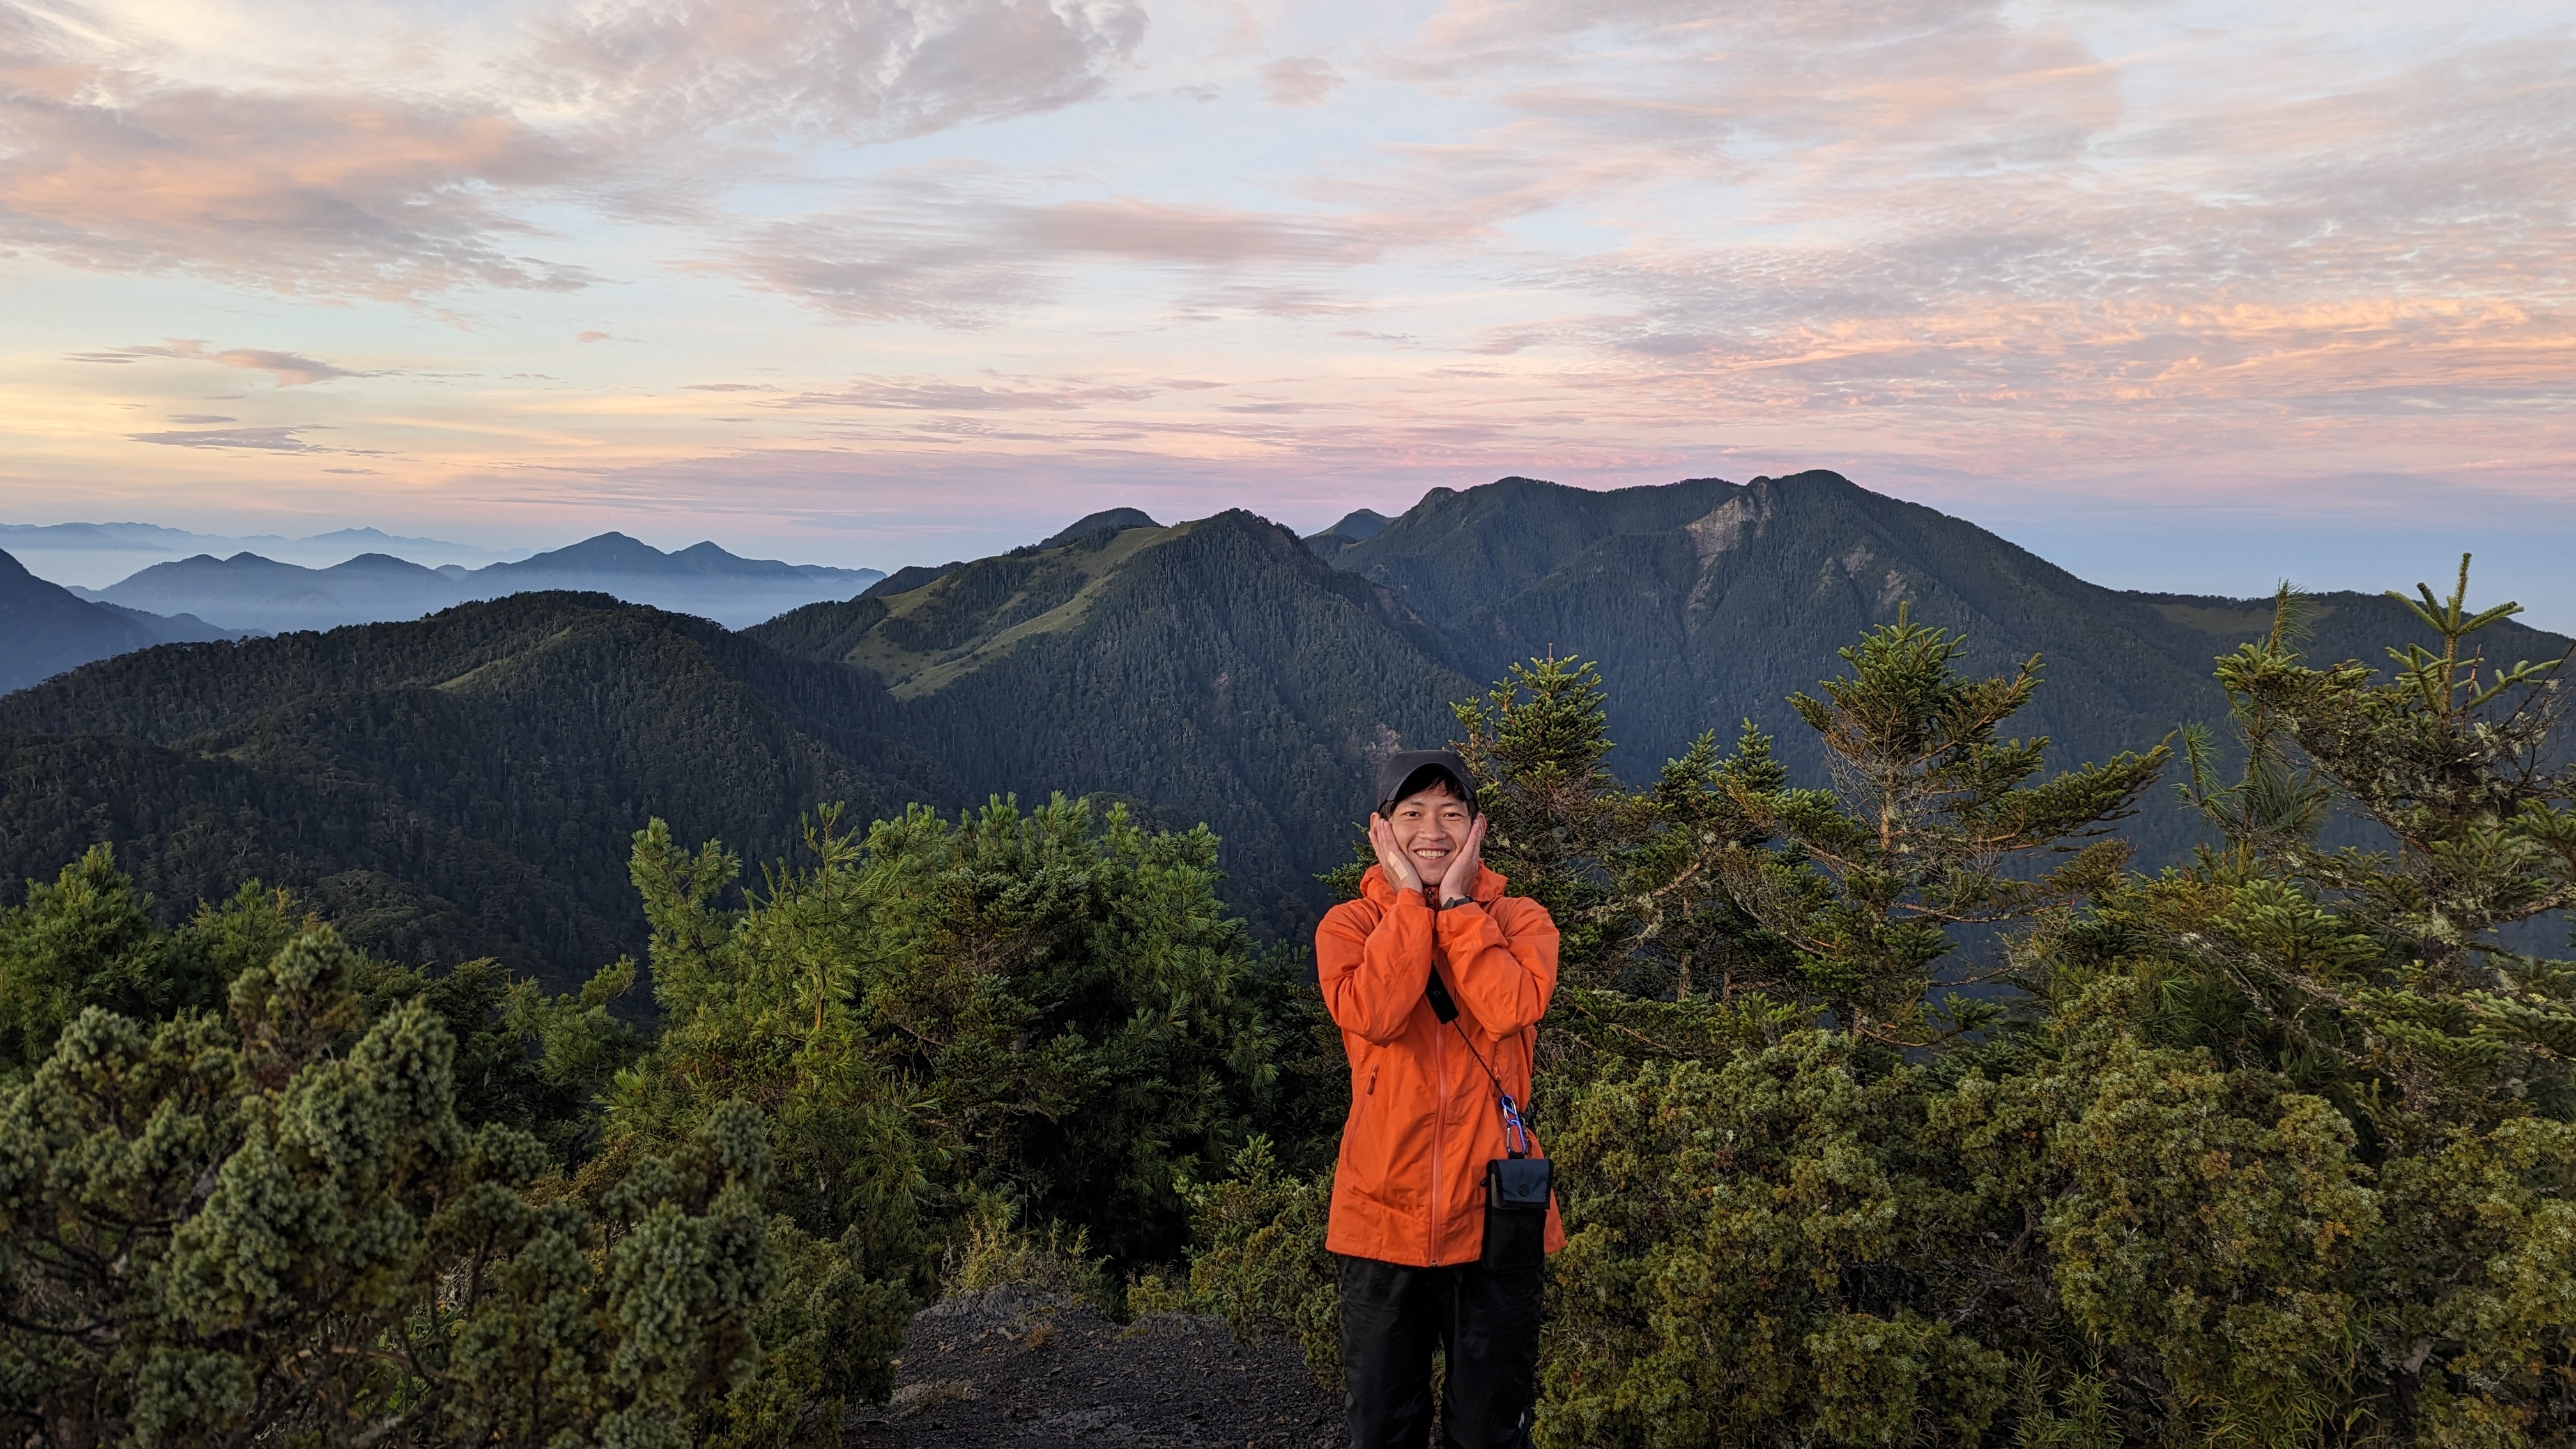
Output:
<path fill-rule="evenodd" d="M 319 297 L 585 286 L 528 255 L 564 196 L 703 219 L 719 131 L 912 137 L 1100 93 L 1123 0 L 590 5 L 497 64 L 507 95 L 170 83 L 118 26 L 0 5 L 0 242 L 95 271 L 196 271 Z M 850 284 L 817 281 L 822 291 Z"/>

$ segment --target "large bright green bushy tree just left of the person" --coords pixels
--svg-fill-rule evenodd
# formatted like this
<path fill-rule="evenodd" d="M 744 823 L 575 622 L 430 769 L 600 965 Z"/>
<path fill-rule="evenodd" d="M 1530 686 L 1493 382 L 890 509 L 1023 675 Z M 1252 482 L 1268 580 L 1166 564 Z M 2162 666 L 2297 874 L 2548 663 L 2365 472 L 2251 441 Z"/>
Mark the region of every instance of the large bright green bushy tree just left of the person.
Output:
<path fill-rule="evenodd" d="M 1280 1098 L 1216 838 L 1059 797 L 912 810 L 866 838 L 822 812 L 809 846 L 806 869 L 719 910 L 721 846 L 688 856 L 659 820 L 636 835 L 665 1029 L 618 1075 L 611 1142 L 757 1101 L 778 1209 L 866 1227 L 922 1289 L 938 1243 L 994 1201 L 1115 1263 L 1172 1261 L 1175 1171 L 1216 1171 Z"/>

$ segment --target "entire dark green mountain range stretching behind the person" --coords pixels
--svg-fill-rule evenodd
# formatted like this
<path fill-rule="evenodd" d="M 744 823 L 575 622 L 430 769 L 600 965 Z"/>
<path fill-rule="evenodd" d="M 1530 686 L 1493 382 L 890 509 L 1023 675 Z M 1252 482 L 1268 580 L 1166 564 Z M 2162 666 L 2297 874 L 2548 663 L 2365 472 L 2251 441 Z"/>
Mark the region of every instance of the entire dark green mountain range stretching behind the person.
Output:
<path fill-rule="evenodd" d="M 564 980 L 636 949 L 623 856 L 652 815 L 768 861 L 819 799 L 886 815 L 1061 789 L 1208 822 L 1229 905 L 1296 938 L 1370 761 L 1448 740 L 1448 704 L 1510 663 L 1600 660 L 1628 779 L 1749 717 L 1821 784 L 1783 699 L 1899 608 L 1963 632 L 1971 668 L 2043 655 L 2014 724 L 2058 763 L 2223 719 L 2210 660 L 2269 624 L 2264 601 L 2089 585 L 1826 472 L 1502 480 L 1311 539 L 1242 511 L 1084 518 L 742 632 L 520 593 L 103 660 L 0 699 L 0 879 L 113 841 L 170 910 L 258 874 L 379 949 Z M 2311 652 L 2411 637 L 2388 598 L 2326 596 Z M 2504 624 L 2491 650 L 2568 639 Z M 2195 838 L 2166 792 L 2130 833 L 2148 859 Z"/>

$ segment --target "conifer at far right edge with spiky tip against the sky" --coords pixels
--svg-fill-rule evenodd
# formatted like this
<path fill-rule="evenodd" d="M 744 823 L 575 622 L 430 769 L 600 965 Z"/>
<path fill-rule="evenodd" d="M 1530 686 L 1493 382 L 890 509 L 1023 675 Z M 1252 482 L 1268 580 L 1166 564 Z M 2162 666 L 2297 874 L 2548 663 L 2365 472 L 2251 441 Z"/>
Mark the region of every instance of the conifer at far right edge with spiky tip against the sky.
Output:
<path fill-rule="evenodd" d="M 2566 1114 L 2576 967 L 2499 936 L 2576 902 L 2566 660 L 2486 660 L 2478 632 L 2522 606 L 2470 611 L 2468 562 L 2447 598 L 2393 593 L 2442 647 L 2388 650 L 2385 678 L 2354 660 L 2311 668 L 2282 642 L 2221 660 L 2228 694 L 2280 719 L 2321 786 L 2396 846 L 2272 841 L 2275 874 L 2331 910 L 2344 946 L 2318 969 L 2269 951 L 2267 975 L 2360 1024 L 2349 1049 L 2419 1106 L 2465 1093 L 2483 1109 L 2460 1111 L 2517 1111 L 2540 1093 Z M 2221 825 L 2239 848 L 2254 841 Z"/>

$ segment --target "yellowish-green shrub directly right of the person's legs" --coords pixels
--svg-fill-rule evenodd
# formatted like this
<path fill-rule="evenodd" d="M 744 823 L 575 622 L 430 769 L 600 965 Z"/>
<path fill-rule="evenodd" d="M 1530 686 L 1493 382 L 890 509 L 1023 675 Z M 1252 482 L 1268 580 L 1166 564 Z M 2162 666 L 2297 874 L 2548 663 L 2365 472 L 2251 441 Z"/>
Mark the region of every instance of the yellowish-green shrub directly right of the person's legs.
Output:
<path fill-rule="evenodd" d="M 1973 1441 L 2007 1361 L 1942 1302 L 1950 1230 L 1927 1083 L 1852 1073 L 1806 1031 L 1726 1062 L 1641 1062 L 1556 1127 L 1546 1444 Z M 1953 1310 L 1953 1312 L 1942 1312 Z"/>

